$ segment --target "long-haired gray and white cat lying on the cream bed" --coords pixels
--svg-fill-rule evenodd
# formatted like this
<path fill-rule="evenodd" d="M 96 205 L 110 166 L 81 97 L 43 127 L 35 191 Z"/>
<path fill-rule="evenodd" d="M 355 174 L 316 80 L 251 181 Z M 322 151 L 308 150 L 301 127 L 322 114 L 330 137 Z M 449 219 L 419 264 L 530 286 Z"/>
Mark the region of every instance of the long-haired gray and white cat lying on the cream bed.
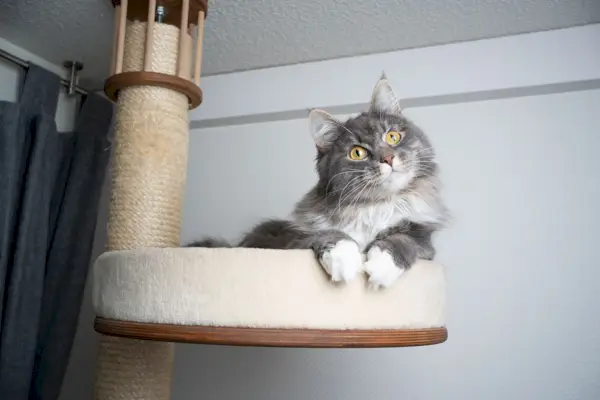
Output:
<path fill-rule="evenodd" d="M 431 236 L 447 220 L 434 150 L 403 116 L 385 78 L 367 112 L 339 121 L 309 114 L 319 180 L 289 220 L 266 220 L 237 247 L 312 249 L 334 282 L 361 271 L 371 288 L 389 287 L 417 259 L 430 260 Z M 227 247 L 207 239 L 194 247 Z"/>

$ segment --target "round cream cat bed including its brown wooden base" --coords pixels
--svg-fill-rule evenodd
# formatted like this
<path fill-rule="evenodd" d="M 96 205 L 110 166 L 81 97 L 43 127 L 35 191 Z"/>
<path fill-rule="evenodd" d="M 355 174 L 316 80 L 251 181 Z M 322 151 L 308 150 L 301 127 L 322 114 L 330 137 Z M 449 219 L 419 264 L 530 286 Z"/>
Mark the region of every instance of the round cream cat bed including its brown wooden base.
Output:
<path fill-rule="evenodd" d="M 95 328 L 172 342 L 389 347 L 446 340 L 442 265 L 418 261 L 392 287 L 334 284 L 309 250 L 145 248 L 102 254 Z"/>

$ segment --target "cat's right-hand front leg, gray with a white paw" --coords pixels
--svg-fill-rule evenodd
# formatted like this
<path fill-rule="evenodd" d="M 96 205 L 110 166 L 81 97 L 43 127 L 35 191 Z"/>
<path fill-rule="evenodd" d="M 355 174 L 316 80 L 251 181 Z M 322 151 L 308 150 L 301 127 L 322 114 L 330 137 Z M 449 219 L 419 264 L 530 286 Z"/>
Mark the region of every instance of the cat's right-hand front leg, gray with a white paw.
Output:
<path fill-rule="evenodd" d="M 365 272 L 369 275 L 369 287 L 387 288 L 417 259 L 432 260 L 432 232 L 425 226 L 407 223 L 379 234 L 367 250 Z"/>

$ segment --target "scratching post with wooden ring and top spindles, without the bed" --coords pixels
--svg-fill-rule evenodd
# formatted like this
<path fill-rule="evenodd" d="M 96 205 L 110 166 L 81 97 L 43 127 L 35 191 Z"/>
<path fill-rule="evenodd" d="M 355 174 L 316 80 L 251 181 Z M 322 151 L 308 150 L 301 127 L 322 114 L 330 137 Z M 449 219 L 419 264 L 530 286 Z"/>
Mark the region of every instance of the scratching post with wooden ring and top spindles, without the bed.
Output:
<path fill-rule="evenodd" d="M 189 32 L 202 29 L 207 1 L 113 0 L 113 5 L 112 75 L 105 84 L 117 103 L 108 250 L 177 247 L 188 111 L 202 101 Z M 197 62 L 201 51 L 198 41 Z M 172 363 L 172 343 L 101 336 L 94 397 L 169 399 Z"/>

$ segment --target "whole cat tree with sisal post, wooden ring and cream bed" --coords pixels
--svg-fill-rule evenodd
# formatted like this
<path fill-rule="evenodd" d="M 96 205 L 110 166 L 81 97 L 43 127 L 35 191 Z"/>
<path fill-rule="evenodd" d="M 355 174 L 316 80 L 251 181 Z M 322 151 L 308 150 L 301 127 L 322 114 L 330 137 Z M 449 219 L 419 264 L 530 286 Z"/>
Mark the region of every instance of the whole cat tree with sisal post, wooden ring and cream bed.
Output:
<path fill-rule="evenodd" d="M 373 292 L 364 278 L 334 285 L 310 250 L 178 248 L 188 111 L 202 102 L 207 0 L 113 5 L 105 92 L 117 113 L 108 248 L 93 270 L 95 329 L 102 334 L 95 398 L 168 399 L 174 342 L 445 341 L 444 271 L 437 263 L 419 261 L 393 287 Z"/>

